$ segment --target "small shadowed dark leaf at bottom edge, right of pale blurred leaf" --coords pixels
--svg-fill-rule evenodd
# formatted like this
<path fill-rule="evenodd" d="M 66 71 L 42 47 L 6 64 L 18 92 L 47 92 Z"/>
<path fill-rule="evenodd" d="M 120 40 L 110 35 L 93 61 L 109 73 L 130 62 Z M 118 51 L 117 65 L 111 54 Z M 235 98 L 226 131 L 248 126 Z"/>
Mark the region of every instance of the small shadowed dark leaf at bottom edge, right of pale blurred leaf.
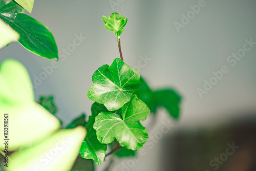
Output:
<path fill-rule="evenodd" d="M 93 161 L 83 159 L 78 155 L 71 171 L 94 171 Z"/>

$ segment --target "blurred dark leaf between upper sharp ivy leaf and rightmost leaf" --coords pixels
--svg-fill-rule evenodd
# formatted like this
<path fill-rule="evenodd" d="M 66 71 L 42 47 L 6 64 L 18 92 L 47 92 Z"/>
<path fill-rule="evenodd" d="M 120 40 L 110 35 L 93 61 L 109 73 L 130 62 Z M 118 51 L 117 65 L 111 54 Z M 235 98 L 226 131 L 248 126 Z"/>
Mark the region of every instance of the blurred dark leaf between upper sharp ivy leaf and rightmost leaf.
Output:
<path fill-rule="evenodd" d="M 140 82 L 141 86 L 139 90 L 135 92 L 135 94 L 138 96 L 139 99 L 146 103 L 152 113 L 155 113 L 157 110 L 157 106 L 153 97 L 153 92 L 150 87 L 147 86 L 145 80 L 142 77 L 140 77 Z"/>

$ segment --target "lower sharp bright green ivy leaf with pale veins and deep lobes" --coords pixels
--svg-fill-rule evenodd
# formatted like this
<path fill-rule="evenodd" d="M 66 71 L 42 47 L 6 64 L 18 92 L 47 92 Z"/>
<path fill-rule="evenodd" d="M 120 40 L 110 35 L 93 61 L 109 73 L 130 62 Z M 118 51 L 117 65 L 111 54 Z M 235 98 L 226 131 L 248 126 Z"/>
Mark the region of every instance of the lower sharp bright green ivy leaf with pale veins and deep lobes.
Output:
<path fill-rule="evenodd" d="M 148 135 L 140 120 L 145 120 L 148 113 L 150 109 L 136 95 L 123 105 L 121 116 L 116 113 L 101 112 L 93 125 L 98 140 L 109 144 L 116 138 L 121 146 L 132 150 L 141 149 Z"/>

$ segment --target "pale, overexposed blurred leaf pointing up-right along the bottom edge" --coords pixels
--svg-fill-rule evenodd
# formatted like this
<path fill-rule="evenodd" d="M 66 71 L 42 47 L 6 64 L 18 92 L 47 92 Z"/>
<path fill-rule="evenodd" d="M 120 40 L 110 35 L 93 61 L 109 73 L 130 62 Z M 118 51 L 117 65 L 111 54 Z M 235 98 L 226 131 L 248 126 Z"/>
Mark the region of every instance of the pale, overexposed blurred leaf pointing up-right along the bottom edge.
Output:
<path fill-rule="evenodd" d="M 60 130 L 41 143 L 12 154 L 7 171 L 70 170 L 85 136 L 82 126 Z"/>

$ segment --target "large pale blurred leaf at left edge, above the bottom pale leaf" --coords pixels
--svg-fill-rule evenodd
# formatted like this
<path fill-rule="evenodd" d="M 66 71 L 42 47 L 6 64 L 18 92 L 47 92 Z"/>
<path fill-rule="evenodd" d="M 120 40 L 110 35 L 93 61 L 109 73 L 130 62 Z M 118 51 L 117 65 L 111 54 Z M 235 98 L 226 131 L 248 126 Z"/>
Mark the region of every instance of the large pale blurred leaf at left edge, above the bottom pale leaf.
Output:
<path fill-rule="evenodd" d="M 0 117 L 0 124 L 4 123 L 4 114 L 8 114 L 10 151 L 38 142 L 60 127 L 56 117 L 34 102 L 30 85 L 29 74 L 21 63 L 14 59 L 1 63 L 0 114 L 3 117 Z M 4 131 L 0 132 L 0 136 L 4 137 Z M 4 144 L 0 143 L 0 149 L 4 148 Z"/>

